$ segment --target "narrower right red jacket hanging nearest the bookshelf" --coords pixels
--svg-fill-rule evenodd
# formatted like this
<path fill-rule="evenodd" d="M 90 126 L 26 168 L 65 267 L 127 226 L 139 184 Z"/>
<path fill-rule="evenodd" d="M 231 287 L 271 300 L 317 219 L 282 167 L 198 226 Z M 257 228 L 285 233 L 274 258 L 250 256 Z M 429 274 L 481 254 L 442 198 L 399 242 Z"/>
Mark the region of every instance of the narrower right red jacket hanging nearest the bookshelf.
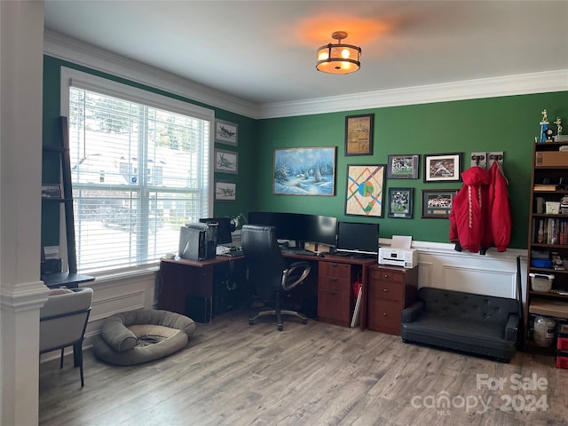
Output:
<path fill-rule="evenodd" d="M 489 169 L 489 211 L 491 215 L 491 235 L 493 245 L 498 251 L 505 251 L 511 238 L 511 212 L 507 178 L 503 176 L 497 162 Z"/>

